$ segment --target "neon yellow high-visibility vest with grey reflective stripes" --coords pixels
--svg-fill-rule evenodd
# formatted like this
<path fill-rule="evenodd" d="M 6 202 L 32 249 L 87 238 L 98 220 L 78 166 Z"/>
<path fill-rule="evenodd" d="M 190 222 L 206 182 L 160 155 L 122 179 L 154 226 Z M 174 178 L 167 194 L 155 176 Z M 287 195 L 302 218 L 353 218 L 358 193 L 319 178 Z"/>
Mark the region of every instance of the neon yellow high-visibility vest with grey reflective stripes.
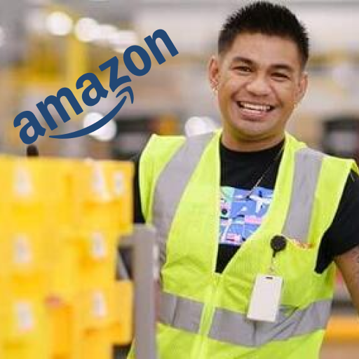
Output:
<path fill-rule="evenodd" d="M 142 212 L 158 230 L 160 359 L 315 359 L 334 290 L 334 264 L 315 271 L 355 162 L 324 155 L 285 134 L 273 200 L 261 226 L 216 273 L 221 131 L 195 137 L 153 135 L 140 158 Z M 246 317 L 259 273 L 269 273 L 271 238 L 283 278 L 275 323 Z M 131 356 L 132 354 L 130 354 Z"/>

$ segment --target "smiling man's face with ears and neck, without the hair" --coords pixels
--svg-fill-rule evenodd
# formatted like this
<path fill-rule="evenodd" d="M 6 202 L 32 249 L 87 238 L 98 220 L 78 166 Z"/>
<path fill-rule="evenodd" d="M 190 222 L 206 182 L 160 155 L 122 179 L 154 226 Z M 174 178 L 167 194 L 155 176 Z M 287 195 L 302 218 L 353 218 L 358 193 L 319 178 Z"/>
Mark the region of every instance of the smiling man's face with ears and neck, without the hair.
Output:
<path fill-rule="evenodd" d="M 263 34 L 238 35 L 230 50 L 212 57 L 209 76 L 218 90 L 223 136 L 231 142 L 281 140 L 307 83 L 296 44 Z"/>

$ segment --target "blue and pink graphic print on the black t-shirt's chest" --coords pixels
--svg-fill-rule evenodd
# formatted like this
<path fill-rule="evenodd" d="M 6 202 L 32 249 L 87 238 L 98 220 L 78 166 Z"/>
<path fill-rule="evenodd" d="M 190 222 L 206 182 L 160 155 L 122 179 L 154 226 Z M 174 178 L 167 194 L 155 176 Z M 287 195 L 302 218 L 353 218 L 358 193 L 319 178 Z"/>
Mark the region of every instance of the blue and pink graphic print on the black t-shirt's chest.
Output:
<path fill-rule="evenodd" d="M 221 187 L 219 243 L 241 246 L 262 223 L 273 198 L 273 189 L 248 190 Z"/>

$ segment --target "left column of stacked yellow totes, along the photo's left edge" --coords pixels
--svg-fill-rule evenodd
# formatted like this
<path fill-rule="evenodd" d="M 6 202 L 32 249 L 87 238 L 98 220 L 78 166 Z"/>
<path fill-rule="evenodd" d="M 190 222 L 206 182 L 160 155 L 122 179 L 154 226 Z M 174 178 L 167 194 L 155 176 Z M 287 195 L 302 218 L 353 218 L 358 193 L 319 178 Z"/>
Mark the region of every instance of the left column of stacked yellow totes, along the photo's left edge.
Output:
<path fill-rule="evenodd" d="M 53 219 L 65 215 L 65 181 L 55 161 L 0 161 L 1 350 L 6 359 L 50 358 L 44 300 Z M 52 174 L 52 175 L 50 175 Z"/>

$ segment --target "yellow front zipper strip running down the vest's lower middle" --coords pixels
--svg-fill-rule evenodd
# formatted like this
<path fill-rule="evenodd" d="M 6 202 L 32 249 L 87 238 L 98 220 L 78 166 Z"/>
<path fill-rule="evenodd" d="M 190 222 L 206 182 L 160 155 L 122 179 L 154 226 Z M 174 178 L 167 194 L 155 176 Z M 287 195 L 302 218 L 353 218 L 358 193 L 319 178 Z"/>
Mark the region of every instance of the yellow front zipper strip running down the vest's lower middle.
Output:
<path fill-rule="evenodd" d="M 205 295 L 205 305 L 201 316 L 201 325 L 198 332 L 198 340 L 194 345 L 192 351 L 192 359 L 208 359 L 206 353 L 205 342 L 208 339 L 210 328 L 212 325 L 212 318 L 216 309 L 217 290 L 222 276 L 219 273 L 213 273 L 212 284 L 208 287 L 207 294 Z"/>

